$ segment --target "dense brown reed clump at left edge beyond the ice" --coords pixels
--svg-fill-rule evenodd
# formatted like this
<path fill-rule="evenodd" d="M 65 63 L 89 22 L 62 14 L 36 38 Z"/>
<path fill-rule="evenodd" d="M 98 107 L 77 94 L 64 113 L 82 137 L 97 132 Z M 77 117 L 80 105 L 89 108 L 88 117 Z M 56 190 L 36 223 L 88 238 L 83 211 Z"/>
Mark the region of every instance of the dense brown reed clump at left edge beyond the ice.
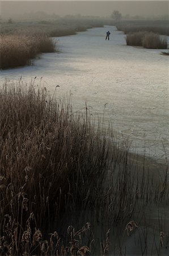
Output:
<path fill-rule="evenodd" d="M 45 34 L 1 35 L 0 68 L 14 68 L 32 64 L 42 52 L 54 52 L 54 41 Z"/>

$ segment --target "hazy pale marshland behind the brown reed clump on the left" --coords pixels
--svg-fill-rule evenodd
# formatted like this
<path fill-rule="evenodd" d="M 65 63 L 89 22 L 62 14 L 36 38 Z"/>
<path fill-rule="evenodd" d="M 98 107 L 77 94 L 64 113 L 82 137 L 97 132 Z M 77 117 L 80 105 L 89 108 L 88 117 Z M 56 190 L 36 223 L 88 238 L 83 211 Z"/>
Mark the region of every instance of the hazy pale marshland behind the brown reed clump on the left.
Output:
<path fill-rule="evenodd" d="M 103 27 L 112 23 L 107 19 L 58 18 L 48 20 L 13 20 L 12 23 L 1 21 L 1 35 L 14 34 L 17 31 L 43 31 L 48 36 L 74 35 L 87 28 Z"/>

